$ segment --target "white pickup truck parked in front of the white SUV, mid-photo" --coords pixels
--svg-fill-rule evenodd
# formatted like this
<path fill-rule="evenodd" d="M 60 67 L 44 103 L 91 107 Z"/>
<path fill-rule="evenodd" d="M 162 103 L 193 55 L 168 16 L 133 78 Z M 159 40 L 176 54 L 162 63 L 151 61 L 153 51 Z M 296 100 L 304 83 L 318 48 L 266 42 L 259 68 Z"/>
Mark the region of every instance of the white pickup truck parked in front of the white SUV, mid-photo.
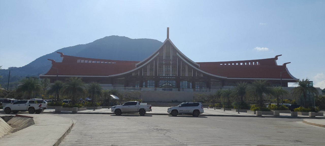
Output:
<path fill-rule="evenodd" d="M 137 101 L 126 102 L 122 105 L 112 106 L 111 112 L 115 115 L 122 115 L 122 113 L 139 113 L 141 116 L 145 115 L 146 112 L 150 112 L 151 105 L 139 105 Z"/>

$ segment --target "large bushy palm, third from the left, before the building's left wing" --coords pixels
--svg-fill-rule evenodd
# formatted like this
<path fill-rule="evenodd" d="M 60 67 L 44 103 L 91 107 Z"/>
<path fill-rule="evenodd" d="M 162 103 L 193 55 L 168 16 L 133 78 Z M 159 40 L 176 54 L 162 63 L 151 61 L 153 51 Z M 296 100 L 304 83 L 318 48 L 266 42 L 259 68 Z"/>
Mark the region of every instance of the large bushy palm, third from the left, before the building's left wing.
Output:
<path fill-rule="evenodd" d="M 72 99 L 72 104 L 75 104 L 78 97 L 85 96 L 85 83 L 78 77 L 70 77 L 63 85 L 62 94 Z"/>

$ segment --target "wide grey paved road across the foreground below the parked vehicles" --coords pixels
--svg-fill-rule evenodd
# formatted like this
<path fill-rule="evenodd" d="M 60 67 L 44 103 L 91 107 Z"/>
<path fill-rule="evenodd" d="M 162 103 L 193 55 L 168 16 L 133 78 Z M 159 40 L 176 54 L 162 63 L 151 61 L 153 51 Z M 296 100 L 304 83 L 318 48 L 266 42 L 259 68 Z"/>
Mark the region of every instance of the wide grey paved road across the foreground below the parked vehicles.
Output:
<path fill-rule="evenodd" d="M 324 146 L 325 128 L 302 119 L 55 114 L 74 126 L 59 146 Z"/>

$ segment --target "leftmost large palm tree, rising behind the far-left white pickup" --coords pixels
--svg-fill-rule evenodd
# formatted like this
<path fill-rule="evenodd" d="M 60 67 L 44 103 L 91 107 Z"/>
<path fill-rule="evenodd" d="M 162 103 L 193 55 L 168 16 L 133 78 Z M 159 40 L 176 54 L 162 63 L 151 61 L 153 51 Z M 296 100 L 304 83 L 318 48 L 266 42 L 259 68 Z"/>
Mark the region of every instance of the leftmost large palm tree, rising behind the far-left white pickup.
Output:
<path fill-rule="evenodd" d="M 27 99 L 32 98 L 32 94 L 36 94 L 41 90 L 38 79 L 27 78 L 22 80 L 22 84 L 18 86 L 17 92 L 27 94 Z"/>

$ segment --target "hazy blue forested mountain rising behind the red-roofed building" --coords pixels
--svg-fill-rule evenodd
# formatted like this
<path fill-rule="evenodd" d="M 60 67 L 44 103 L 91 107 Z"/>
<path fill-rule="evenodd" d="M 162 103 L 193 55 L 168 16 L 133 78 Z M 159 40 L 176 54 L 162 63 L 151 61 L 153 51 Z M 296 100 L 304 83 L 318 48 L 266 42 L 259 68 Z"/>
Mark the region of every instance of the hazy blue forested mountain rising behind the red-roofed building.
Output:
<path fill-rule="evenodd" d="M 43 55 L 23 67 L 9 67 L 9 69 L 13 69 L 10 72 L 10 81 L 17 81 L 27 76 L 38 77 L 38 75 L 45 73 L 51 66 L 51 61 L 47 59 L 53 59 L 56 62 L 62 61 L 62 58 L 56 52 L 87 58 L 142 61 L 158 50 L 161 45 L 162 42 L 153 39 L 130 39 L 124 36 L 107 36 L 91 43 L 59 49 L 53 53 Z M 7 86 L 8 73 L 8 69 L 0 70 L 0 75 L 3 76 L 0 81 L 2 87 Z"/>

